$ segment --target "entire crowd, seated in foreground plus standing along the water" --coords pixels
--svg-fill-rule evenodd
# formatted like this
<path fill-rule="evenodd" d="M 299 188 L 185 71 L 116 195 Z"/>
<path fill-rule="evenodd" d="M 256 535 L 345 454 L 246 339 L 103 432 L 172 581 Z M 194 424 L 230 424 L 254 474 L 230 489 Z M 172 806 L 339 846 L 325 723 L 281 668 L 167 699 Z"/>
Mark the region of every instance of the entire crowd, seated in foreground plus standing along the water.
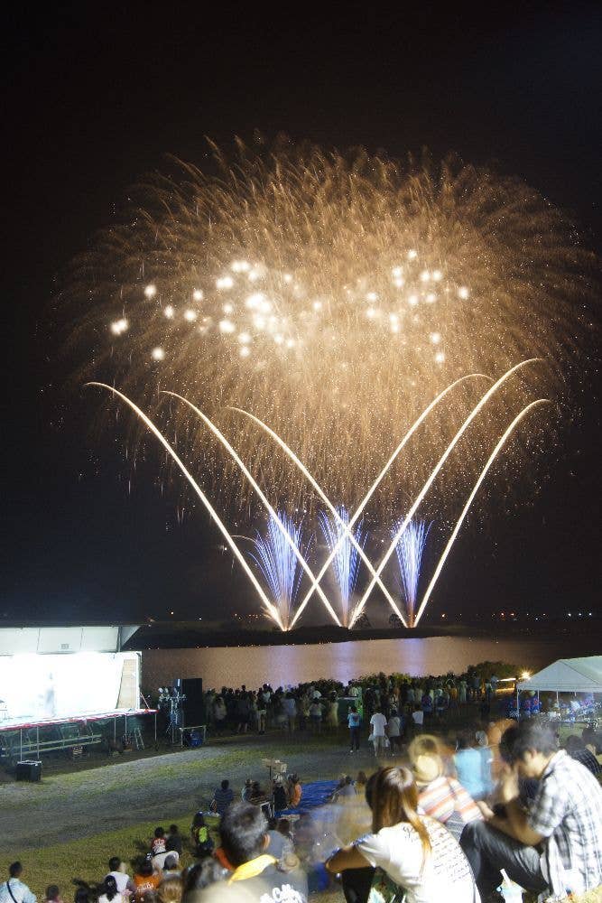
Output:
<path fill-rule="evenodd" d="M 131 868 L 111 859 L 97 886 L 80 883 L 75 903 L 306 903 L 311 889 L 334 881 L 357 903 L 403 894 L 406 903 L 494 903 L 503 879 L 541 900 L 596 889 L 602 739 L 587 728 L 560 749 L 554 721 L 541 717 L 484 717 L 478 730 L 446 730 L 445 712 L 456 707 L 473 703 L 473 715 L 477 706 L 489 716 L 497 684 L 495 675 L 379 675 L 337 687 L 209 691 L 208 723 L 218 734 L 318 733 L 339 726 L 344 699 L 350 751 L 369 726 L 375 773 L 344 774 L 329 804 L 311 811 L 294 773 L 275 774 L 266 787 L 248 777 L 235 789 L 224 779 L 208 811 L 193 816 L 190 840 L 176 824 L 157 827 L 146 855 Z M 196 861 L 182 868 L 188 851 Z M 19 862 L 0 884 L 0 903 L 36 903 Z M 45 903 L 63 903 L 58 887 Z"/>

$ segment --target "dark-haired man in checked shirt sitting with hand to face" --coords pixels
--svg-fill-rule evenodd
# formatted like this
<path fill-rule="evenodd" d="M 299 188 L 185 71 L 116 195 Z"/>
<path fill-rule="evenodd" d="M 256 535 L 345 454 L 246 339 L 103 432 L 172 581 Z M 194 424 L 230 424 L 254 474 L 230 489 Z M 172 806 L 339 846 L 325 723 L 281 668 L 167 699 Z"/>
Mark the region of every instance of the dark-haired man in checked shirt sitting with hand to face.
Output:
<path fill-rule="evenodd" d="M 485 822 L 462 833 L 482 896 L 500 883 L 500 869 L 525 890 L 564 898 L 602 883 L 602 788 L 564 749 L 551 727 L 521 721 L 505 731 L 500 753 L 507 763 L 496 788 L 496 805 L 480 808 Z M 539 781 L 529 810 L 518 798 L 518 779 Z"/>

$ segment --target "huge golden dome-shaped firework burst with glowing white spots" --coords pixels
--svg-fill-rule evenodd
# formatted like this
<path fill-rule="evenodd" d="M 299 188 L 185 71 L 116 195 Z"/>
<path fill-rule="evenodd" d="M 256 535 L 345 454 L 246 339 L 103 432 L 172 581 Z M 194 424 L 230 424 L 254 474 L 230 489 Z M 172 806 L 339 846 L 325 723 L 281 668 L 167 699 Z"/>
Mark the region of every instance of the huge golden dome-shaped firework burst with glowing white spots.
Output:
<path fill-rule="evenodd" d="M 452 489 L 475 478 L 501 417 L 542 387 L 561 396 L 585 257 L 570 225 L 522 182 L 454 159 L 400 164 L 312 146 L 240 145 L 235 160 L 216 150 L 215 161 L 215 175 L 179 164 L 147 182 L 126 221 L 79 261 L 75 287 L 94 376 L 188 439 L 224 500 L 245 506 L 250 490 L 159 388 L 236 436 L 273 503 L 289 509 L 315 507 L 307 482 L 230 408 L 273 427 L 353 510 L 455 378 L 541 359 L 472 424 L 440 478 Z M 463 382 L 421 425 L 379 486 L 379 518 L 399 516 L 480 391 Z"/>

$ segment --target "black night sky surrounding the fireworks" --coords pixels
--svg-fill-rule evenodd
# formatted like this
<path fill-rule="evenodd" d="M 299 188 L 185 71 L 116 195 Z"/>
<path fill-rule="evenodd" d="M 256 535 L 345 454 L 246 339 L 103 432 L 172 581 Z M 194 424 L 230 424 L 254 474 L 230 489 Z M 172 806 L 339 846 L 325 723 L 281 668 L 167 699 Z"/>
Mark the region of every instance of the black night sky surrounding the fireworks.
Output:
<path fill-rule="evenodd" d="M 89 3 L 5 23 L 2 617 L 183 618 L 255 604 L 204 517 L 179 526 L 175 494 L 160 497 L 148 473 L 127 491 L 121 446 L 91 433 L 95 401 L 65 387 L 70 363 L 51 326 L 56 276 L 164 154 L 202 163 L 203 135 L 229 144 L 254 129 L 392 156 L 453 150 L 523 177 L 600 251 L 599 5 L 498 5 L 495 17 L 366 6 L 282 5 L 278 16 Z M 599 397 L 595 368 L 587 378 Z M 533 507 L 507 518 L 500 502 L 488 535 L 458 543 L 431 617 L 597 605 L 597 406 L 583 406 L 546 462 Z"/>

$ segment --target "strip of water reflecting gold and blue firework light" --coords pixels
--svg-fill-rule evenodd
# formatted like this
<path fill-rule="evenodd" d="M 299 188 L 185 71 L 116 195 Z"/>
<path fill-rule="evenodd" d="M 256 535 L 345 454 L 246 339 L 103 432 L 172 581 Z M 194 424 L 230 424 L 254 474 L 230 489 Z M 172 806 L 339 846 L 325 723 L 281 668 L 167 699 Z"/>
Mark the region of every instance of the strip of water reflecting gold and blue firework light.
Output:
<path fill-rule="evenodd" d="M 201 649 L 149 649 L 143 653 L 143 688 L 154 689 L 175 677 L 202 677 L 205 686 L 286 686 L 330 677 L 402 672 L 410 675 L 461 673 L 482 661 L 505 661 L 539 670 L 557 658 L 579 655 L 566 640 L 372 639 L 307 646 L 247 646 Z"/>

